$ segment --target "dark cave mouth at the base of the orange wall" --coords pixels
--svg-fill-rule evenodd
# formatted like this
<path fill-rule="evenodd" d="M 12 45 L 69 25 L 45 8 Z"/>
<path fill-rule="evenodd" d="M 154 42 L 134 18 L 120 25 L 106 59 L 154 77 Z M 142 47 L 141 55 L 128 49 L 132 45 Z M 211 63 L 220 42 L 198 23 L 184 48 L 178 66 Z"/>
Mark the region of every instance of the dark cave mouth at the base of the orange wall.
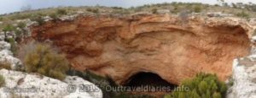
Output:
<path fill-rule="evenodd" d="M 177 87 L 177 84 L 167 82 L 158 74 L 148 72 L 140 72 L 132 75 L 123 85 L 141 89 L 149 87 L 147 90 L 143 90 L 144 92 L 171 92 Z"/>

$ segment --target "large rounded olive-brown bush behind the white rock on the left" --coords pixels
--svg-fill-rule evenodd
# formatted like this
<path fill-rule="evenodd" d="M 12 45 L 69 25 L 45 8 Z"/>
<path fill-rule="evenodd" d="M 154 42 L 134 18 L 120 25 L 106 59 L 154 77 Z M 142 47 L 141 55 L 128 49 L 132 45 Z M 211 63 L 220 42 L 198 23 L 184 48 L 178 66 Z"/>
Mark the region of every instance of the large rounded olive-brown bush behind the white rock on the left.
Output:
<path fill-rule="evenodd" d="M 24 55 L 23 62 L 26 72 L 41 73 L 55 79 L 65 79 L 69 65 L 65 56 L 47 44 L 36 42 L 34 44 L 32 47 L 29 46 L 28 50 L 25 49 L 27 54 Z"/>

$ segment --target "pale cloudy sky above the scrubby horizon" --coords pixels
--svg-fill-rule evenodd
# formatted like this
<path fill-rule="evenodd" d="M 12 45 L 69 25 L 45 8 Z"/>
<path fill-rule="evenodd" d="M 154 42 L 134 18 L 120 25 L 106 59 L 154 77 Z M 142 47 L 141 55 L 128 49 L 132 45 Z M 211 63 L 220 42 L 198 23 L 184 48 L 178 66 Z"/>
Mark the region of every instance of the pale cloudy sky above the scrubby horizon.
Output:
<path fill-rule="evenodd" d="M 227 3 L 256 3 L 256 0 L 225 0 Z M 59 6 L 118 6 L 129 8 L 151 3 L 218 3 L 217 0 L 0 0 L 0 14 L 8 14 L 20 11 L 21 7 L 30 5 L 32 9 L 49 8 Z"/>

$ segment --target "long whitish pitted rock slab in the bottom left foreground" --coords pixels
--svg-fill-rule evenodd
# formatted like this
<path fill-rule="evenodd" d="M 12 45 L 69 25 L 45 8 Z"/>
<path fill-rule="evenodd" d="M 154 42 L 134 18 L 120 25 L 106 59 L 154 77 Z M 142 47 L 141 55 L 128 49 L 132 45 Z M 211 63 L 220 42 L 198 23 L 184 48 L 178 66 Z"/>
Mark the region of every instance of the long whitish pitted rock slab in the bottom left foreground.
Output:
<path fill-rule="evenodd" d="M 5 79 L 5 86 L 0 88 L 1 98 L 102 98 L 102 90 L 96 85 L 76 76 L 67 76 L 64 82 L 57 79 L 32 74 L 0 70 Z M 69 84 L 76 84 L 76 90 L 67 90 Z M 79 91 L 79 84 L 94 86 L 96 92 Z M 19 91 L 20 90 L 20 91 Z"/>

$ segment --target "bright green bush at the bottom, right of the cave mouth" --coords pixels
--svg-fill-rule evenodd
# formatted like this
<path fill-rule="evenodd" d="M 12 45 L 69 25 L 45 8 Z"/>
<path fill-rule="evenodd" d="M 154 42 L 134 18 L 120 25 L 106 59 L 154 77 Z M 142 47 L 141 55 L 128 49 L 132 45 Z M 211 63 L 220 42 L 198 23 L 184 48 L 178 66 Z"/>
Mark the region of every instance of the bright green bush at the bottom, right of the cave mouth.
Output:
<path fill-rule="evenodd" d="M 165 98 L 224 98 L 227 85 L 218 80 L 216 74 L 198 73 L 194 79 L 184 80 L 181 84 L 189 91 L 174 91 Z"/>

